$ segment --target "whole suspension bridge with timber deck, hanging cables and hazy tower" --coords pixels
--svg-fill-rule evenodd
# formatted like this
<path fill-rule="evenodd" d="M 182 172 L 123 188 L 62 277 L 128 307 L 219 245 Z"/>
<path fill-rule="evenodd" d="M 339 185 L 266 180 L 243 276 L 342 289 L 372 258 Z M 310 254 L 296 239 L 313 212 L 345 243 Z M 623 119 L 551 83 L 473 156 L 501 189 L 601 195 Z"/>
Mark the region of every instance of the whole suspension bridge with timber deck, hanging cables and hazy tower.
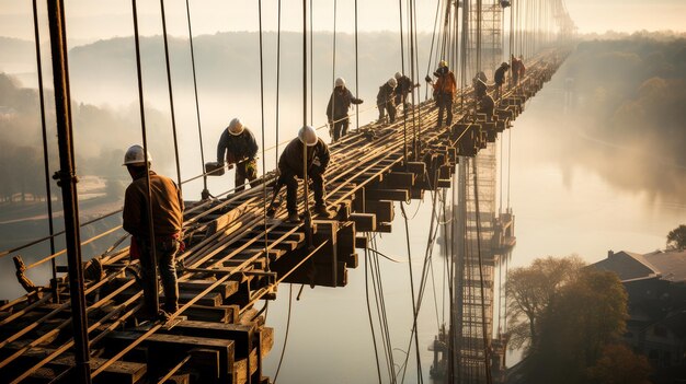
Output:
<path fill-rule="evenodd" d="M 35 20 L 36 1 L 33 3 Z M 135 0 L 133 5 L 141 131 L 147 147 Z M 261 1 L 259 5 L 262 10 Z M 415 7 L 412 0 L 399 2 L 411 78 L 421 79 L 412 20 L 416 18 Z M 161 11 L 164 18 L 163 1 Z M 302 12 L 302 103 L 307 124 L 307 1 Z M 3 382 L 270 383 L 262 359 L 272 349 L 275 330 L 265 324 L 266 305 L 259 310 L 258 304 L 274 300 L 279 283 L 345 287 L 347 274 L 355 272 L 348 269 L 357 268 L 361 257 L 366 259 L 375 252 L 370 244 L 374 234 L 395 230 L 391 222 L 398 202 L 404 217 L 402 203 L 424 199 L 426 194 L 433 206 L 430 246 L 443 225 L 444 251 L 451 260 L 450 319 L 432 345 L 435 359 L 431 374 L 436 382 L 505 382 L 506 333 L 498 329 L 493 334 L 493 316 L 500 313 L 494 295 L 502 295 L 496 291 L 495 269 L 508 257 L 515 236 L 512 210 L 507 207 L 503 211 L 502 201 L 500 207 L 496 201 L 498 143 L 503 144 L 502 133 L 513 128 L 527 101 L 550 80 L 569 53 L 567 39 L 573 23 L 562 1 L 438 1 L 436 44 L 432 44 L 430 56 L 434 56 L 434 63 L 439 58 L 459 63 L 454 68 L 460 84 L 454 97 L 454 124 L 439 126 L 435 103 L 420 102 L 416 91 L 412 91 L 412 107 L 403 110 L 396 123 L 362 125 L 333 143 L 332 162 L 325 172 L 327 205 L 333 211 L 330 217 L 306 213 L 302 223 L 287 222 L 285 210 L 267 217 L 277 178 L 274 171 L 264 172 L 256 186 L 227 191 L 222 199 L 204 194 L 198 201 L 187 201 L 186 248 L 178 256 L 182 263 L 178 270 L 180 309 L 168 322 L 146 323 L 136 318 L 142 292 L 128 272 L 137 261 L 129 258 L 126 236 L 113 242 L 99 257 L 88 263 L 81 259 L 81 246 L 121 228 L 80 240 L 79 228 L 87 223 L 78 220 L 76 198 L 65 36 L 68 9 L 59 0 L 49 0 L 47 13 L 60 154 L 60 171 L 55 178 L 62 193 L 66 247 L 55 248 L 54 240 L 61 233 L 55 233 L 50 225 L 46 238 L 0 253 L 0 257 L 14 258 L 19 283 L 27 291 L 0 305 Z M 507 15 L 510 32 L 505 31 Z M 403 22 L 410 31 L 402 31 Z M 192 45 L 190 22 L 188 33 Z M 517 83 L 504 85 L 495 98 L 493 116 L 477 113 L 471 77 L 482 69 L 491 75 L 490 70 L 515 54 L 526 57 L 526 74 Z M 169 79 L 169 56 L 167 59 Z M 404 59 L 402 66 L 404 71 Z M 197 88 L 195 91 L 197 103 Z M 44 123 L 44 147 L 45 132 Z M 178 147 L 176 165 L 183 184 Z M 49 194 L 48 176 L 46 171 Z M 205 173 L 196 177 L 203 178 L 205 189 L 208 176 Z M 307 212 L 309 195 L 306 179 L 298 190 L 299 211 Z M 447 207 L 448 200 L 453 206 Z M 443 212 L 437 201 L 443 201 Z M 22 251 L 39 243 L 50 243 L 50 255 L 25 266 Z M 66 265 L 57 265 L 65 256 Z M 26 270 L 48 263 L 53 271 L 49 282 L 36 286 L 26 278 Z M 420 287 L 411 288 L 414 349 L 408 356 L 416 352 L 418 365 L 416 316 L 426 277 L 424 269 Z M 498 303 L 503 306 L 502 300 Z M 390 366 L 393 371 L 393 364 Z M 381 375 L 379 369 L 379 382 L 385 381 Z M 423 380 L 418 366 L 418 382 Z M 400 381 L 397 372 L 391 372 L 388 381 Z"/>

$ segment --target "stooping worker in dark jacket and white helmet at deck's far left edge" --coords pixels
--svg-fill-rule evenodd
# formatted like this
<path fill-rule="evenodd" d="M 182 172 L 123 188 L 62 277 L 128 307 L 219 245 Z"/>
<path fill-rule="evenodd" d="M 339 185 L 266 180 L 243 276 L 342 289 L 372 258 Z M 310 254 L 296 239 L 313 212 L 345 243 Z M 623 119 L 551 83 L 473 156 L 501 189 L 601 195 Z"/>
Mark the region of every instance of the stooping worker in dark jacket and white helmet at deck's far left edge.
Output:
<path fill-rule="evenodd" d="M 238 117 L 232 119 L 219 138 L 217 163 L 224 164 L 226 160 L 229 166 L 236 164 L 236 191 L 245 189 L 245 179 L 252 185 L 252 182 L 258 178 L 256 154 L 255 137 Z"/>

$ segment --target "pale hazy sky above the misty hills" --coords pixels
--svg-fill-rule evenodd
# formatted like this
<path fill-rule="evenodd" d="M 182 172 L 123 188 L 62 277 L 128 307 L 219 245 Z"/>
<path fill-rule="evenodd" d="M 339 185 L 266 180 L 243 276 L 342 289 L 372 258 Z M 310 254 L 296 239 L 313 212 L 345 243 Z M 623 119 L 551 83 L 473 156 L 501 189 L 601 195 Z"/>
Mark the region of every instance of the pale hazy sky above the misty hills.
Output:
<path fill-rule="evenodd" d="M 516 1 L 516 0 L 514 0 Z M 45 0 L 38 1 L 45 23 Z M 404 1 L 403 1 L 404 3 Z M 128 0 L 66 0 L 68 36 L 72 40 L 94 40 L 130 35 L 133 30 Z M 185 0 L 167 0 L 168 27 L 172 35 L 187 34 Z M 263 0 L 263 27 L 276 28 L 277 0 Z M 300 0 L 282 0 L 283 28 L 301 28 Z M 633 32 L 638 30 L 686 31 L 685 0 L 567 0 L 580 32 Z M 159 34 L 161 21 L 158 0 L 139 0 L 142 34 Z M 245 31 L 258 27 L 256 0 L 191 1 L 194 34 Z M 333 1 L 313 1 L 315 30 L 333 28 Z M 433 30 L 436 0 L 418 1 L 419 30 Z M 361 31 L 397 31 L 397 0 L 358 0 Z M 506 18 L 507 19 L 507 18 Z M 354 0 L 338 0 L 338 31 L 354 28 Z M 31 38 L 31 1 L 0 2 L 0 36 Z M 47 35 L 47 30 L 44 34 Z"/>

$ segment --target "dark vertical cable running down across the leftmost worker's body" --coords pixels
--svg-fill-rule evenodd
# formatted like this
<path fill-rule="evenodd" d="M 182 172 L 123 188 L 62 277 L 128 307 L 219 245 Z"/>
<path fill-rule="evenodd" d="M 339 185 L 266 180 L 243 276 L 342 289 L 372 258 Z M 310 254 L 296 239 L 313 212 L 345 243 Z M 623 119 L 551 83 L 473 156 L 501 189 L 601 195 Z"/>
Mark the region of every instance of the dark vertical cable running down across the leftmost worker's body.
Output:
<path fill-rule="evenodd" d="M 144 101 L 144 94 L 142 94 L 142 70 L 141 70 L 141 65 L 140 65 L 140 36 L 138 33 L 138 7 L 136 5 L 136 0 L 132 0 L 132 11 L 134 14 L 134 43 L 135 43 L 135 47 L 136 47 L 136 77 L 138 79 L 138 107 L 139 107 L 139 112 L 140 112 L 140 132 L 142 133 L 142 151 L 146 158 L 146 188 L 147 188 L 147 195 L 148 195 L 148 201 L 147 201 L 147 210 L 148 210 L 148 233 L 149 233 L 149 244 L 148 247 L 150 248 L 150 254 L 147 255 L 148 257 L 151 257 L 152 260 L 150 261 L 150 265 L 152 266 L 151 270 L 152 272 L 150 274 L 150 278 L 152 278 L 153 283 L 155 283 L 155 291 L 153 291 L 153 300 L 155 300 L 155 310 L 159 310 L 159 292 L 158 292 L 158 279 L 157 279 L 157 246 L 156 246 L 156 238 L 155 238 L 155 222 L 153 222 L 153 216 L 152 216 L 152 198 L 151 198 L 151 191 L 150 191 L 150 162 L 147 161 L 148 160 L 148 131 L 146 128 L 146 110 L 145 110 L 145 101 Z M 152 284 L 151 284 L 152 286 Z"/>

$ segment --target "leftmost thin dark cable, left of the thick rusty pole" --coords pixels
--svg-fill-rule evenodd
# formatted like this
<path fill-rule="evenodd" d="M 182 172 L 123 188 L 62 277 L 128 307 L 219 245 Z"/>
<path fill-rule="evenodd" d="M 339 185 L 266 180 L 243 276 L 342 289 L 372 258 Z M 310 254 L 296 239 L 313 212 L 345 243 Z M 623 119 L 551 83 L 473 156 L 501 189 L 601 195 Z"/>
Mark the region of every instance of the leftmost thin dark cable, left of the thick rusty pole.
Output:
<path fill-rule="evenodd" d="M 41 58 L 41 34 L 38 31 L 38 7 L 36 0 L 33 0 L 33 30 L 36 40 L 36 69 L 38 71 L 38 98 L 41 101 L 41 131 L 43 132 L 43 166 L 45 171 L 45 197 L 47 202 L 48 232 L 50 234 L 50 255 L 55 254 L 55 226 L 53 225 L 53 191 L 50 188 L 50 160 L 47 148 L 47 126 L 45 123 L 45 92 L 43 91 L 43 60 Z M 53 301 L 59 303 L 57 294 L 57 266 L 55 258 L 50 260 L 50 270 L 53 280 L 50 288 L 53 289 Z"/>

